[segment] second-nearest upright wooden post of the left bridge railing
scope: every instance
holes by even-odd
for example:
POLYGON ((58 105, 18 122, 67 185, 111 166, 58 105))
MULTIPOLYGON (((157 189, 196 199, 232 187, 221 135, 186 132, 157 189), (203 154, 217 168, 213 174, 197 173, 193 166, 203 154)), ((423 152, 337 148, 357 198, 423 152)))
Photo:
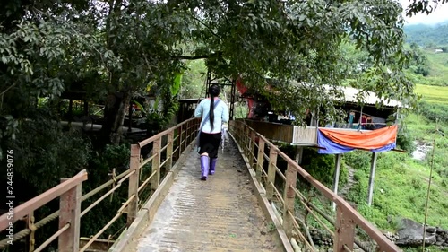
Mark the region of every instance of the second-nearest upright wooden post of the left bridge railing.
POLYGON ((135 217, 138 212, 138 202, 139 202, 139 180, 140 180, 140 146, 138 144, 131 145, 131 160, 129 161, 129 169, 131 172, 135 170, 134 174, 129 176, 129 188, 127 192, 127 197, 134 198, 127 205, 127 227, 134 222, 135 217))

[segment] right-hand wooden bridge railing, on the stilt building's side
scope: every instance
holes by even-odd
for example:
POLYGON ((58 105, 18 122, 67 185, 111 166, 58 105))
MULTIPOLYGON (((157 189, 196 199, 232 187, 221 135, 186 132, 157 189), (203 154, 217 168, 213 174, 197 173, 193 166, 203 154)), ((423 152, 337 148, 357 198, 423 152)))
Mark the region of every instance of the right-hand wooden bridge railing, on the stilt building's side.
MULTIPOLYGON (((263 170, 265 169, 265 166, 263 166, 263 161, 266 160, 269 162, 269 166, 267 168, 268 175, 265 183, 267 187, 266 197, 269 201, 272 201, 277 196, 279 197, 280 202, 283 205, 283 220, 281 222, 281 225, 289 239, 295 242, 295 239, 299 238, 304 241, 303 244, 307 243, 307 241, 305 240, 306 236, 304 236, 297 228, 298 224, 295 220, 295 217, 292 216, 293 213, 295 213, 295 203, 298 199, 298 202, 305 206, 307 213, 311 213, 311 215, 313 215, 317 222, 323 225, 325 230, 329 231, 330 234, 334 234, 334 251, 347 251, 347 249, 353 250, 353 244, 359 244, 358 240, 354 237, 355 225, 358 225, 358 227, 364 230, 371 239, 375 240, 377 246, 381 251, 401 251, 395 244, 392 243, 391 240, 383 236, 381 231, 377 230, 370 222, 366 221, 366 219, 360 213, 358 213, 348 202, 332 192, 331 189, 325 187, 320 181, 313 178, 308 172, 306 172, 305 169, 301 168, 296 161, 293 161, 287 154, 281 152, 276 145, 271 143, 263 135, 255 132, 254 129, 250 126, 247 126, 245 122, 239 120, 231 121, 229 124, 229 131, 232 135, 234 135, 237 144, 242 149, 242 154, 246 157, 250 168, 255 169, 255 173, 257 174, 257 183, 259 183, 262 187, 262 177, 265 177, 266 174, 266 172, 263 170), (269 149, 269 157, 266 153, 264 153, 265 147, 269 149), (256 152, 258 152, 258 154, 256 152), (277 157, 280 157, 288 164, 285 174, 282 174, 280 169, 278 169, 277 167, 277 157), (284 184, 283 196, 280 196, 280 190, 278 190, 275 185, 275 175, 278 172, 281 173, 279 174, 279 178, 281 178, 281 181, 283 181, 284 184), (330 230, 317 217, 317 215, 313 213, 314 205, 309 203, 308 200, 306 200, 306 198, 297 189, 297 175, 305 178, 312 187, 314 187, 323 196, 336 204, 336 221, 333 222, 334 231, 330 230)), ((316 211, 316 213, 322 215, 322 211, 316 211)), ((327 219, 328 216, 323 216, 323 218, 327 219)), ((309 248, 309 246, 307 247, 309 248)))

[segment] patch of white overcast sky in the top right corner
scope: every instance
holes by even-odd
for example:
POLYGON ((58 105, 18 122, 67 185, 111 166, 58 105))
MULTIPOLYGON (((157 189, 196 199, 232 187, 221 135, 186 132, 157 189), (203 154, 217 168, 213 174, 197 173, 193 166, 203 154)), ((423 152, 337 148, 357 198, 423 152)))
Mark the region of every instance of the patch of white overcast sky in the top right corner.
MULTIPOLYGON (((409 0, 400 0, 401 6, 406 10, 408 5, 412 2, 409 0)), ((407 24, 435 24, 437 22, 448 21, 448 3, 439 4, 433 13, 429 15, 425 14, 417 14, 412 16, 411 18, 406 16, 406 13, 403 13, 404 19, 407 21, 407 24)))

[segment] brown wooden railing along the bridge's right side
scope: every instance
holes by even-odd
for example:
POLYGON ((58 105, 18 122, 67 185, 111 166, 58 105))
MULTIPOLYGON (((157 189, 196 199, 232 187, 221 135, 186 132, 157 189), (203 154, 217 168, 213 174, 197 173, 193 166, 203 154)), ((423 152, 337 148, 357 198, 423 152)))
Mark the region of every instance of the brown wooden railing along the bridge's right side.
POLYGON ((277 146, 247 126, 244 121, 231 121, 229 132, 234 136, 251 173, 255 174, 256 187, 262 188, 262 195, 267 198, 272 212, 276 213, 280 220, 278 228, 284 230, 290 245, 296 251, 317 251, 308 231, 311 224, 307 223, 311 221, 318 229, 332 236, 333 251, 353 251, 355 244, 365 251, 401 251, 381 231, 366 221, 351 204, 323 186, 296 161, 280 152, 277 146), (280 161, 286 166, 284 172, 280 161), (297 185, 297 181, 307 181, 308 185, 297 185), (299 187, 302 187, 302 190, 298 189, 299 187), (306 196, 306 187, 311 187, 311 191, 319 194, 315 198, 326 198, 326 202, 321 205, 314 204, 310 197, 306 196), (336 213, 332 213, 335 214, 334 217, 325 213, 325 207, 322 207, 327 205, 327 209, 331 209, 332 203, 336 204, 336 213), (358 232, 365 233, 370 238, 370 243, 356 238, 357 226, 358 232), (300 246, 303 248, 299 248, 300 246))

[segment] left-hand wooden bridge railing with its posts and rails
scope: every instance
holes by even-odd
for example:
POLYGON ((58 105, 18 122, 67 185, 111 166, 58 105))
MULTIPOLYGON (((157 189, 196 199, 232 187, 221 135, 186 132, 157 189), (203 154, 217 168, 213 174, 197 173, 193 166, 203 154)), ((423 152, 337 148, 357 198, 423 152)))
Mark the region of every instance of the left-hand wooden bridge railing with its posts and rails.
MULTIPOLYGON (((140 210, 142 202, 151 198, 151 193, 159 187, 160 182, 164 178, 163 175, 173 167, 182 152, 187 149, 187 146, 194 142, 198 126, 199 119, 192 118, 177 126, 173 126, 158 135, 151 136, 138 144, 132 144, 129 169, 118 175, 115 174, 115 169, 112 169, 112 179, 83 196, 82 181, 87 179, 87 172, 85 170, 82 170, 82 172, 73 178, 61 179, 62 182, 58 186, 30 199, 30 201, 24 204, 10 209, 9 213, 4 213, 4 215, 0 216, 0 231, 11 233, 11 236, 7 236, 6 239, 0 241, 0 248, 12 246, 15 241, 28 238, 30 243, 29 251, 38 252, 42 251, 52 241, 58 238, 59 252, 83 252, 90 249, 95 242, 99 242, 100 240, 104 241, 104 239, 99 239, 99 237, 108 230, 108 228, 116 222, 123 213, 126 213, 127 215, 127 226, 131 225, 131 223, 134 222, 136 214, 140 210), (143 160, 141 156, 142 147, 149 145, 150 143, 152 143, 151 157, 143 160), (163 146, 162 143, 164 144, 163 146), (145 168, 151 169, 150 175, 147 178, 143 178, 142 176, 142 170, 145 168), (123 203, 116 211, 116 215, 95 235, 87 239, 81 239, 82 248, 80 248, 80 225, 82 224, 82 216, 89 213, 108 196, 111 196, 123 185, 126 179, 129 179, 129 183, 125 184, 128 184, 129 186, 128 197, 125 200, 125 203, 123 203), (148 186, 150 186, 149 190, 147 189, 148 186), (104 192, 95 202, 82 210, 83 201, 92 196, 99 195, 99 192, 104 191, 108 187, 112 188, 107 192, 104 192), (143 194, 143 192, 148 191, 149 193, 143 194), (58 196, 60 197, 59 210, 42 220, 39 220, 39 222, 35 222, 33 212, 58 196), (11 216, 13 216, 13 220, 11 219, 11 216), (14 225, 17 221, 21 221, 24 218, 27 221, 27 228, 16 231, 14 225), (39 248, 35 248, 34 235, 36 230, 57 218, 59 219, 59 230, 43 242, 39 248), (14 230, 10 231, 9 229, 14 230)), ((114 240, 106 241, 108 243, 110 242, 108 248, 114 243, 114 240)), ((14 251, 14 249, 10 251, 14 251)))

